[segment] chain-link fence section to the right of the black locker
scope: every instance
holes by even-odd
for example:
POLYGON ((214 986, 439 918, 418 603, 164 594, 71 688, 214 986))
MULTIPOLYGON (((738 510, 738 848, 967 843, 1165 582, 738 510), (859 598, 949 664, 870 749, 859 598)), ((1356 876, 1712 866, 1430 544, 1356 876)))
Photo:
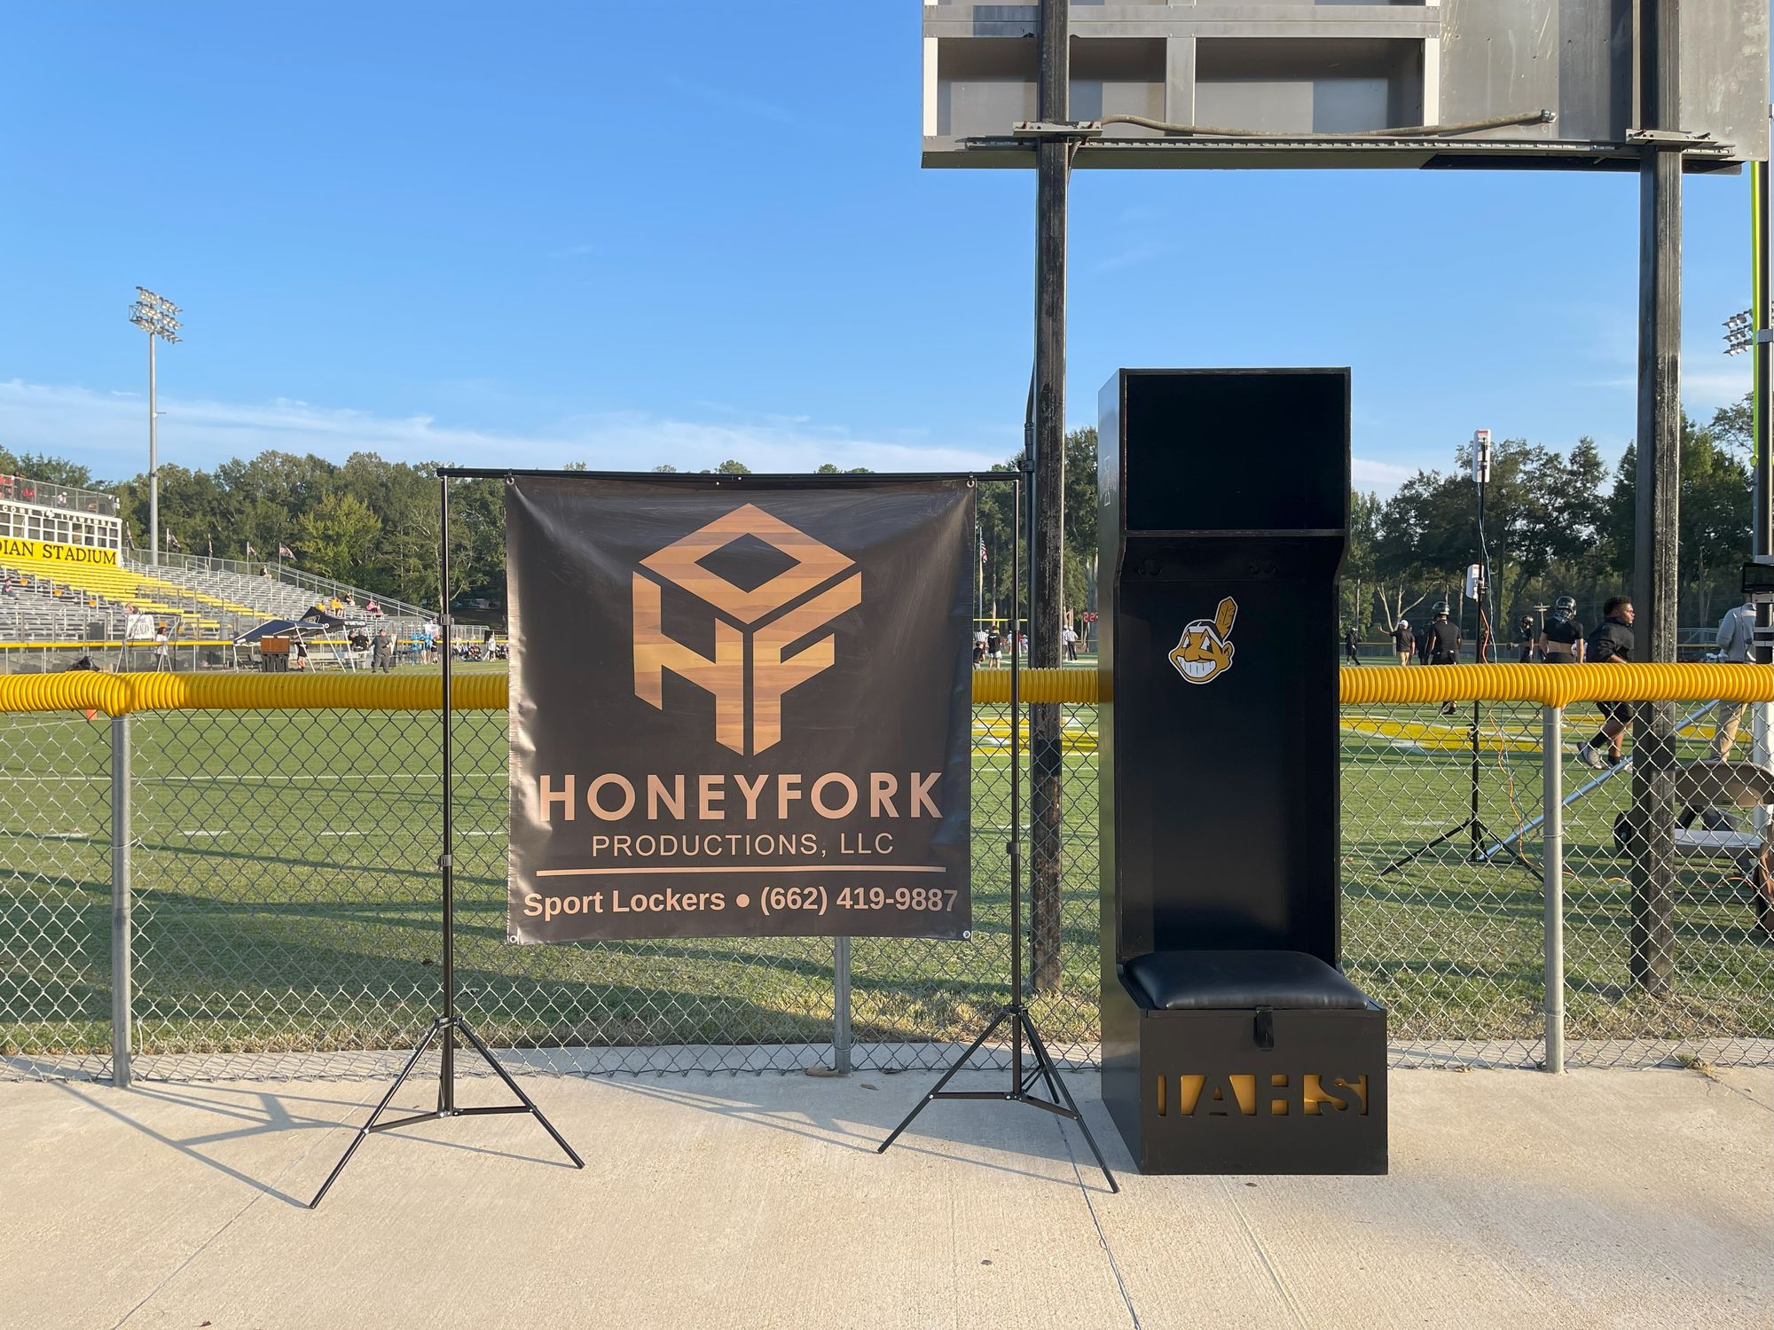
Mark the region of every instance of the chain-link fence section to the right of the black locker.
MULTIPOLYGON (((1712 759, 1714 706, 1673 711, 1673 759, 1712 759)), ((1689 768, 1705 778, 1675 802, 1678 825, 1632 835, 1632 763, 1611 764, 1605 745, 1582 761, 1602 720, 1588 702, 1561 718, 1549 920, 1545 709, 1343 709, 1343 958, 1387 1005, 1394 1066, 1543 1066, 1549 926, 1563 942, 1566 1066, 1774 1060, 1765 819, 1737 807, 1742 778, 1689 768), (1659 874, 1662 940, 1636 942, 1644 880, 1659 874)), ((1740 773, 1753 770, 1747 729, 1740 773)))

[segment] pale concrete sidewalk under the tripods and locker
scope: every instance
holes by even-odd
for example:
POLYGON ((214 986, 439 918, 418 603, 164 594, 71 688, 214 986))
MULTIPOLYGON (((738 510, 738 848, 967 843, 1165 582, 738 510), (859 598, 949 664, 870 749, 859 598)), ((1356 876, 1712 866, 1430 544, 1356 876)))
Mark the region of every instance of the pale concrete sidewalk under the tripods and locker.
POLYGON ((1032 1108, 876 1156, 930 1080, 529 1078, 584 1172, 456 1119, 373 1137, 319 1211, 380 1084, 5 1084, 0 1323, 1774 1326, 1774 1069, 1393 1073, 1389 1177, 1121 1195, 1032 1108))

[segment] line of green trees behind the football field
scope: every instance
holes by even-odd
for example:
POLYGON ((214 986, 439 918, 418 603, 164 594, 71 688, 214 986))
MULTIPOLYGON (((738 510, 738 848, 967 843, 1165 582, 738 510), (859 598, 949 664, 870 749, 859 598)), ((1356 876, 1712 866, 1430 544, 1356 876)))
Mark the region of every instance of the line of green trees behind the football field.
MULTIPOLYGON (((1735 603, 1737 569, 1749 532, 1751 406, 1746 395, 1707 424, 1682 419, 1682 603, 1684 624, 1707 624, 1735 603)), ((213 470, 160 468, 160 525, 184 553, 275 562, 279 548, 321 576, 420 605, 438 599, 438 463, 385 461, 353 452, 344 463, 261 452, 213 470), (250 553, 248 553, 250 550, 250 553)), ((1471 456, 1451 472, 1419 470, 1382 500, 1357 493, 1343 566, 1343 619, 1366 638, 1384 637, 1400 617, 1460 601, 1465 567, 1480 560, 1471 456)), ((584 470, 578 466, 577 470, 584 470)), ((676 472, 660 465, 655 472, 676 472)), ((711 468, 750 473, 729 459, 711 468)), ((836 473, 827 463, 820 468, 836 473)), ((852 468, 864 472, 866 468, 852 468)), ((992 472, 1013 473, 1018 461, 992 472)), ((1506 626, 1558 596, 1575 596, 1593 621, 1600 603, 1632 582, 1636 452, 1609 470, 1595 442, 1556 452, 1524 438, 1494 447, 1485 488, 1485 544, 1492 598, 1506 626)), ((105 489, 119 500, 126 530, 147 539, 147 477, 96 479, 62 458, 12 454, 0 447, 0 472, 50 484, 105 489)), ((1066 434, 1064 587, 1071 612, 1095 603, 1096 429, 1066 434)), ((1024 500, 1027 504, 1027 477, 1024 500)), ((1011 610, 1013 488, 981 484, 977 497, 981 612, 1004 622, 1011 610)), ((452 582, 459 594, 504 601, 504 493, 498 481, 459 481, 451 491, 452 582)), ((1024 550, 1027 569, 1031 552, 1024 550)), ((1471 622, 1471 614, 1469 614, 1471 622)))

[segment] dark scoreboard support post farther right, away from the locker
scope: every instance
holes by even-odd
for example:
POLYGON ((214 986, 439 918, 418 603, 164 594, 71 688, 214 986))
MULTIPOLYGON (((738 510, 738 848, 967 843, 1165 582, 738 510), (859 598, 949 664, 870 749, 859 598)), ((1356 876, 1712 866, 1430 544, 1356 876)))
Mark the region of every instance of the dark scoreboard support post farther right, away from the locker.
MULTIPOLYGON (((1682 140, 1680 0, 1641 0, 1639 422, 1632 599, 1639 660, 1676 656, 1678 488, 1682 479, 1682 140), (1662 133, 1659 133, 1662 131, 1662 133)), ((1632 982, 1662 993, 1675 970, 1675 704, 1634 716, 1632 982)))

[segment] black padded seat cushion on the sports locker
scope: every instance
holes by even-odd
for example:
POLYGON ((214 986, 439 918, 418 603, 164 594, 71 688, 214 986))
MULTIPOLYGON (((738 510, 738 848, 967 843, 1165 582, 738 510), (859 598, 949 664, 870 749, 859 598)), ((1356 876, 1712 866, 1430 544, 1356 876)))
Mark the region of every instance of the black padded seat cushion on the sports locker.
POLYGON ((1359 988, 1302 951, 1157 951, 1125 972, 1160 1011, 1368 1005, 1359 988))

